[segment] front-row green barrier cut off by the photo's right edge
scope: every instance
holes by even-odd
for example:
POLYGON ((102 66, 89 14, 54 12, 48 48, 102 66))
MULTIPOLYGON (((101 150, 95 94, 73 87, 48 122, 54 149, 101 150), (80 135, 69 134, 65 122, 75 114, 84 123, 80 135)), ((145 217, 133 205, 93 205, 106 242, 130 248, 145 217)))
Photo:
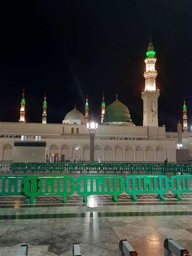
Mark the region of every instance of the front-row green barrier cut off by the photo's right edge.
POLYGON ((171 191, 175 198, 182 200, 181 194, 192 193, 192 175, 177 175, 171 177, 171 191))

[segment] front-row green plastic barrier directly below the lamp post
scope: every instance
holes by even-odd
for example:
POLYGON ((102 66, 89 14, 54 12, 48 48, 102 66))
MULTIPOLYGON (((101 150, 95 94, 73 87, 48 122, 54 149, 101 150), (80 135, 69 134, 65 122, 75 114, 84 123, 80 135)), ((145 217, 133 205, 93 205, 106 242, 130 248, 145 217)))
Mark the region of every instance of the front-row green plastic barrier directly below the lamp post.
POLYGON ((112 200, 117 202, 117 196, 124 190, 123 183, 121 176, 81 176, 77 179, 76 190, 85 203, 87 196, 91 195, 111 195, 112 200))

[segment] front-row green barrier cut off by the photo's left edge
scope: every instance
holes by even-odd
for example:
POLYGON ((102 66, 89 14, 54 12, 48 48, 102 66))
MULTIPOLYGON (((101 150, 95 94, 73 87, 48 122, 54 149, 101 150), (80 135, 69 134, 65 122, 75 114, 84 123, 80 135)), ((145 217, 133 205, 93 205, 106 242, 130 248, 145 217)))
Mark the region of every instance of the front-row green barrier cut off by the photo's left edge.
POLYGON ((0 176, 0 196, 21 196, 23 176, 0 176))

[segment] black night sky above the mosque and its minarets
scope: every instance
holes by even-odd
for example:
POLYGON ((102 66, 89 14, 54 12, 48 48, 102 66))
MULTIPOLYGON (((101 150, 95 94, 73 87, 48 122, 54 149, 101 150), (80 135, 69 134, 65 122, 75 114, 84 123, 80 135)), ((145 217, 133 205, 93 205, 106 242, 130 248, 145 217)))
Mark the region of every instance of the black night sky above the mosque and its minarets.
POLYGON ((0 21, 0 121, 19 119, 22 88, 26 120, 61 123, 77 105, 100 121, 102 92, 115 94, 132 121, 143 124, 145 53, 149 34, 156 51, 159 126, 176 130, 183 96, 192 125, 192 1, 4 1, 0 21))

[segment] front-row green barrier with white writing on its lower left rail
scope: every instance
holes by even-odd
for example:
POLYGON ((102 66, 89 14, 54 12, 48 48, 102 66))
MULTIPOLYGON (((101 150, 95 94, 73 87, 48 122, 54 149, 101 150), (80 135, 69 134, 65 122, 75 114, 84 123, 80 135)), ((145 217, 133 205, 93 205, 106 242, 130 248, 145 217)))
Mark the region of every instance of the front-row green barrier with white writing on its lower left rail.
POLYGON ((66 203, 67 196, 75 192, 75 179, 72 176, 31 176, 24 181, 23 193, 26 203, 35 203, 37 196, 62 196, 66 203))

